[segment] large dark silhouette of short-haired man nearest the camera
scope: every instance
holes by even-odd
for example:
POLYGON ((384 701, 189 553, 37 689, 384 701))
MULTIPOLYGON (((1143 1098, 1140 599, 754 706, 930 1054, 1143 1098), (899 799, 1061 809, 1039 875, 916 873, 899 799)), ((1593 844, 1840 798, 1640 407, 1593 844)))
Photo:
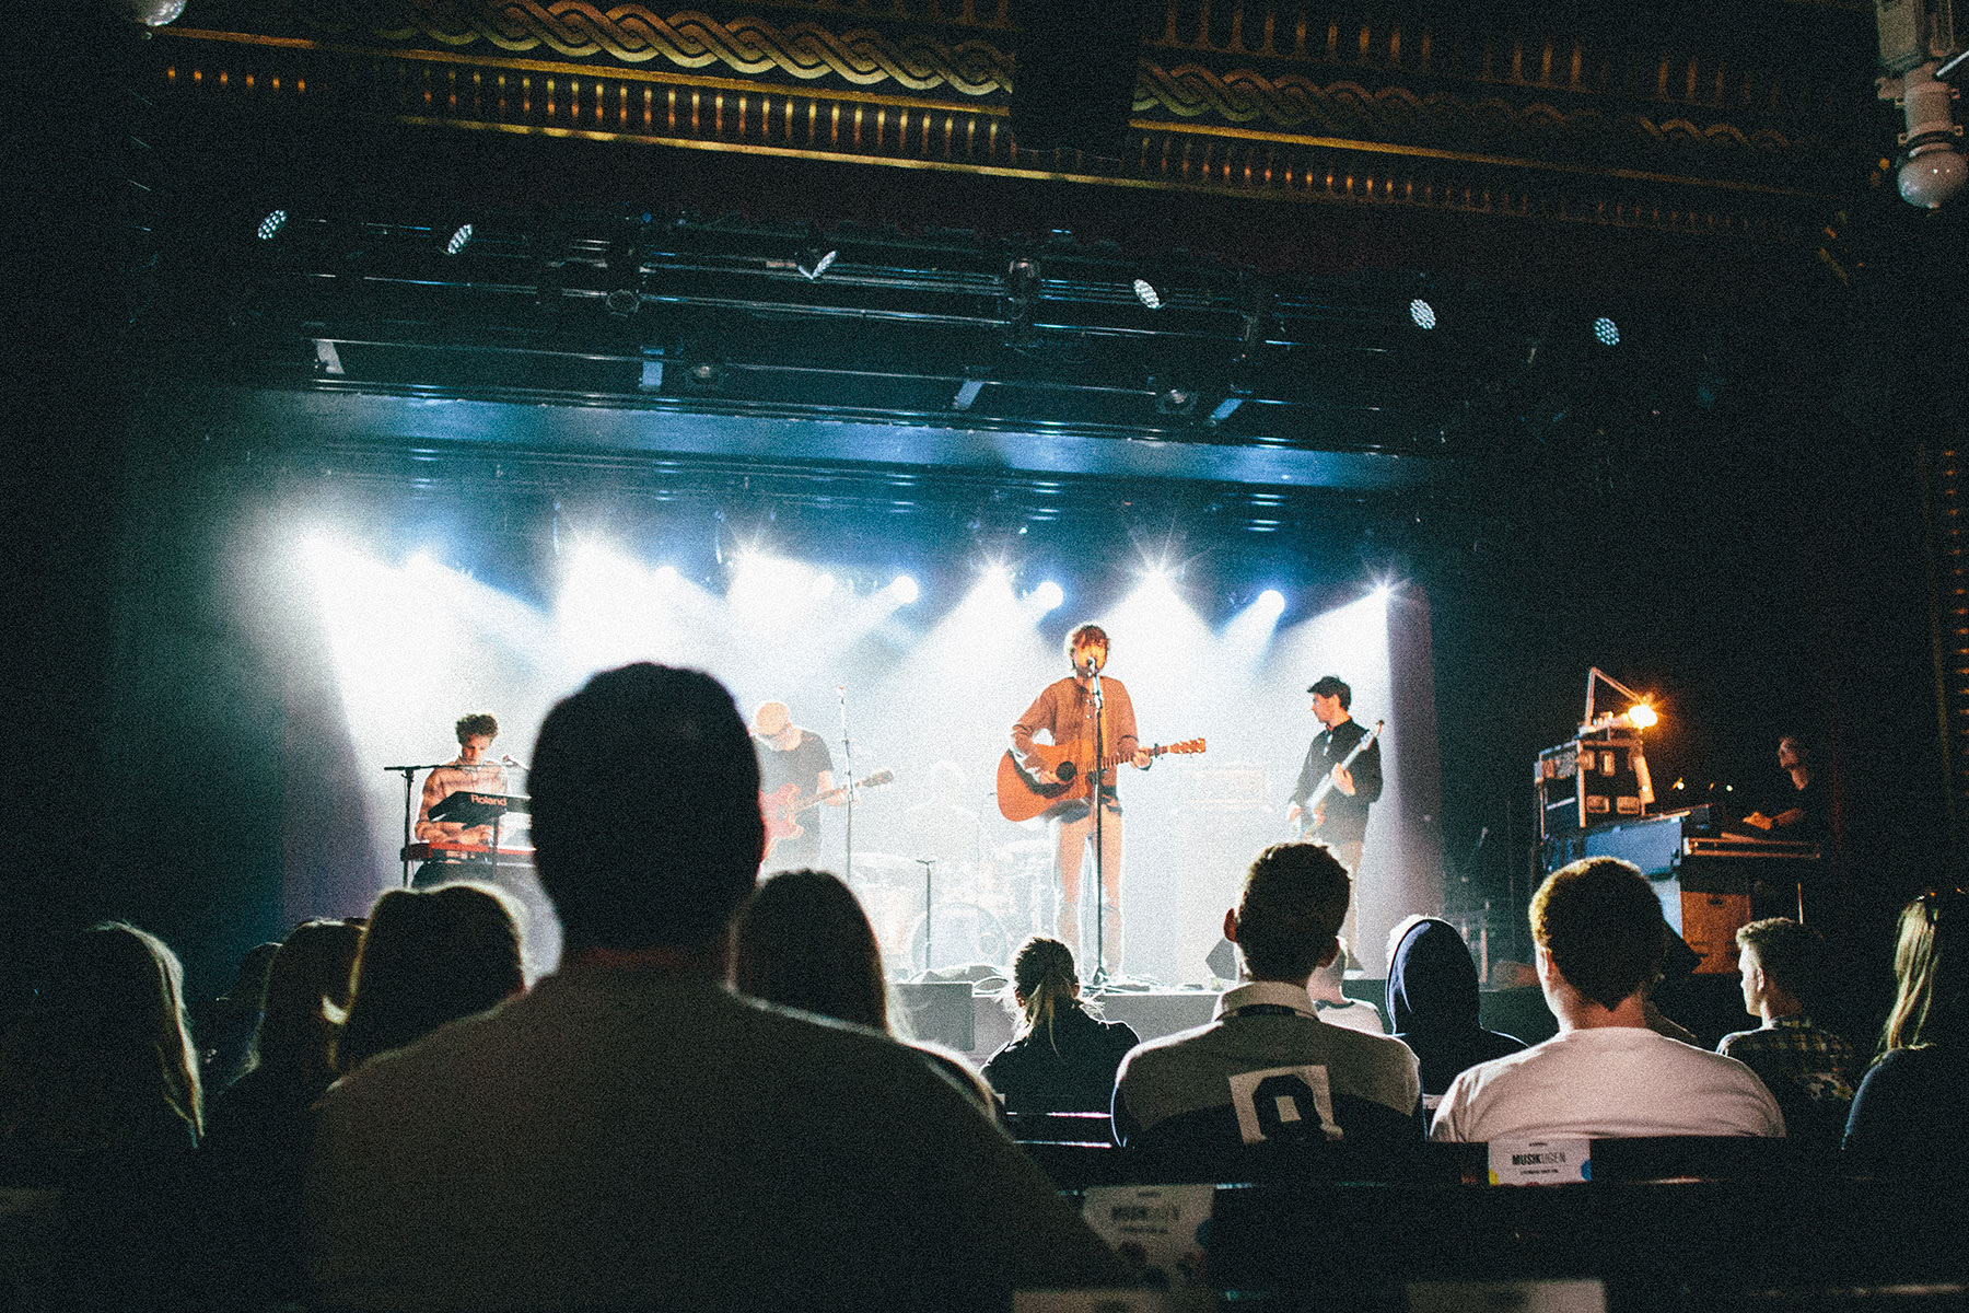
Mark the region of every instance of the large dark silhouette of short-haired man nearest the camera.
POLYGON ((319 1303, 969 1309, 1120 1280, 921 1055, 727 988, 764 823, 723 685, 597 675, 532 762, 561 969, 323 1096, 319 1303))

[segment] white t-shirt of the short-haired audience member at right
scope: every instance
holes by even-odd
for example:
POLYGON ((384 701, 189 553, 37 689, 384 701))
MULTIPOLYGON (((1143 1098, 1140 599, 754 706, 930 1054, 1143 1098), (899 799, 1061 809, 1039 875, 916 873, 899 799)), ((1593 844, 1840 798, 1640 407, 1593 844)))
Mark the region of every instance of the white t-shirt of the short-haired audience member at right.
POLYGON ((1435 1110, 1431 1140, 1577 1136, 1782 1136, 1784 1114, 1756 1075, 1638 1026, 1559 1032, 1479 1063, 1435 1110))

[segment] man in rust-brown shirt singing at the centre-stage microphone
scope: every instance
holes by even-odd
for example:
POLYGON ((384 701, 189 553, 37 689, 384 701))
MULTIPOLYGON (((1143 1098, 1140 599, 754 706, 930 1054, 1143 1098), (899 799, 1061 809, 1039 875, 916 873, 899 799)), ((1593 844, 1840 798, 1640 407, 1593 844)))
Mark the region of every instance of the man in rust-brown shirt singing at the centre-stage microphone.
MULTIPOLYGON (((1026 715, 1012 726, 1012 756, 1042 785, 1061 783, 1059 776, 1046 768, 1032 754, 1032 736, 1046 732, 1055 744, 1085 742, 1085 756, 1093 758, 1095 742, 1095 701, 1093 689, 1101 685, 1103 724, 1101 750, 1109 758, 1128 758, 1136 770, 1148 770, 1154 760, 1134 736, 1134 703, 1120 679, 1101 675, 1109 659, 1107 630, 1099 624, 1081 624, 1067 634, 1067 663, 1073 673, 1055 679, 1040 691, 1026 715)), ((1105 967, 1111 970, 1120 963, 1120 801, 1114 797, 1114 770, 1099 782, 1101 793, 1101 892, 1103 921, 1101 943, 1105 967)), ((1053 872, 1059 878, 1059 937, 1069 947, 1079 947, 1081 929, 1081 866, 1087 862, 1087 848, 1093 841, 1095 807, 1093 799, 1063 803, 1051 815, 1053 829, 1053 872)))

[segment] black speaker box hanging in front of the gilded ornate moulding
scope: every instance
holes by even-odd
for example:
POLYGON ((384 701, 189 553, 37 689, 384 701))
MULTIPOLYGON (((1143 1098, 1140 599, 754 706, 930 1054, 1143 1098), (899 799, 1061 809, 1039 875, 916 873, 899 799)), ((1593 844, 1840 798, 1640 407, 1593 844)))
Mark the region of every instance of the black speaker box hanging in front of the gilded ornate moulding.
POLYGON ((1018 0, 1012 144, 1120 159, 1134 112, 1140 0, 1018 0))

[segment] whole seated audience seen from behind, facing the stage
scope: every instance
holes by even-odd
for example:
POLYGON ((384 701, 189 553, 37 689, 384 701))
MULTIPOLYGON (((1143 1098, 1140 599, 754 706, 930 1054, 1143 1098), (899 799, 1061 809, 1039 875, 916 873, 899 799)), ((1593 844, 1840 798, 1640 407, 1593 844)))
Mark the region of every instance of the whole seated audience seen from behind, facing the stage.
POLYGON ((1392 1033, 1363 1018, 1333 976, 1349 874, 1276 844, 1225 915, 1242 978, 1207 1026, 1142 1043, 1034 937, 1014 1037, 973 1071, 894 1033, 841 880, 758 884, 758 783, 707 675, 630 665, 557 705, 532 795, 565 949, 534 988, 518 909, 471 882, 293 927, 203 1043, 167 945, 77 933, 0 1043, 0 1303, 1002 1307, 1124 1283, 1004 1130, 1048 1112, 1107 1114, 1144 1156, 1790 1134, 1861 1173, 1969 1167, 1959 890, 1902 911, 1863 1065, 1811 1020, 1821 945, 1796 921, 1739 935, 1758 1028, 1715 1053, 1662 1033, 1660 906, 1632 866, 1577 862, 1532 900, 1559 1033, 1524 1045, 1481 1026, 1431 917, 1390 937, 1392 1033))

